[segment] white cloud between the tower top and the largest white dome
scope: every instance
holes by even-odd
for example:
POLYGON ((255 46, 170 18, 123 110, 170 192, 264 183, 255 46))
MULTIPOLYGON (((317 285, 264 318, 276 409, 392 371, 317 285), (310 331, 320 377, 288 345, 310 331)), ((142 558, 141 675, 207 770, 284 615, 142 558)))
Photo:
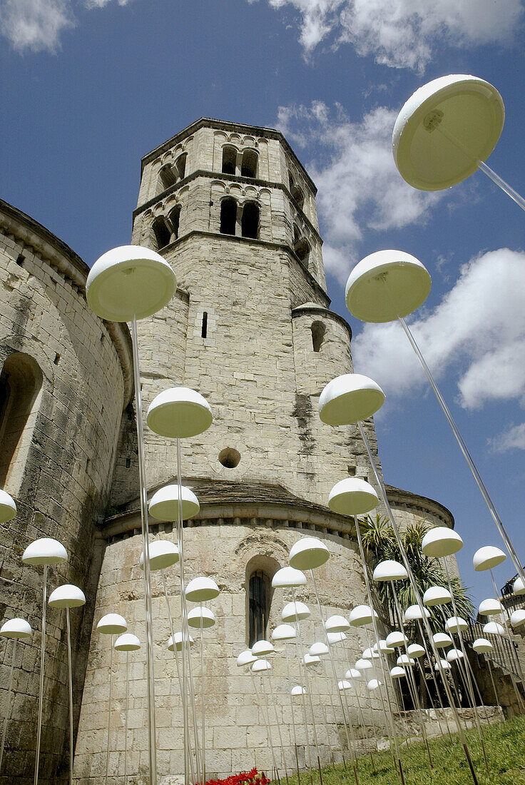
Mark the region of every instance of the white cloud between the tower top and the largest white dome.
POLYGON ((303 148, 315 145, 318 162, 307 168, 318 188, 323 257, 326 271, 341 283, 357 261, 363 230, 421 223, 443 195, 417 191, 400 177, 391 152, 396 116, 381 107, 352 122, 340 106, 330 113, 322 101, 279 108, 278 126, 286 137, 303 148))

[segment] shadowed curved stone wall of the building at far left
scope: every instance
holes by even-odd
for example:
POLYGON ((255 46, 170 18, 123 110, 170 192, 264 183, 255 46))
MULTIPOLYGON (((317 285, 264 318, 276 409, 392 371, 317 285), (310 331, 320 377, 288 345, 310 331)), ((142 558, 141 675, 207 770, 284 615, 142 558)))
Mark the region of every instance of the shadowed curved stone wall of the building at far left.
MULTIPOLYGON (((59 539, 69 560, 49 568, 49 592, 71 582, 86 593, 86 606, 71 612, 78 706, 89 646, 86 626, 90 630, 94 608, 88 587, 100 566, 92 558, 93 543, 108 505, 122 406, 131 392, 130 347, 126 327, 103 323, 90 312, 83 288, 86 265, 64 243, 5 203, 0 203, 0 230, 0 370, 9 368, 12 387, 2 409, 0 439, 4 450, 7 443, 14 448, 10 463, 2 464, 2 482, 18 509, 0 531, 0 623, 23 616, 33 628, 16 652, 16 696, 2 773, 29 782, 35 765, 42 568, 24 566, 21 557, 34 539, 59 539), (35 394, 20 414, 31 385, 35 394)), ((42 782, 56 780, 69 755, 64 612, 48 608, 46 641, 42 782)), ((2 639, 2 717, 8 709, 10 656, 11 643, 2 639)))

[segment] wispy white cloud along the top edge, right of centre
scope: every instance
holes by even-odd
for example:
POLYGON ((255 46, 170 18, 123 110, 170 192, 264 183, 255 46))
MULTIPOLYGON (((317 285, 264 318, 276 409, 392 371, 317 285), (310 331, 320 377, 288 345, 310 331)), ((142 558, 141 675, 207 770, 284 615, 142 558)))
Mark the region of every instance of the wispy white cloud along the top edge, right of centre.
POLYGON ((301 15, 306 53, 332 35, 392 68, 423 71, 432 52, 448 46, 503 44, 523 20, 521 0, 268 0, 301 15))

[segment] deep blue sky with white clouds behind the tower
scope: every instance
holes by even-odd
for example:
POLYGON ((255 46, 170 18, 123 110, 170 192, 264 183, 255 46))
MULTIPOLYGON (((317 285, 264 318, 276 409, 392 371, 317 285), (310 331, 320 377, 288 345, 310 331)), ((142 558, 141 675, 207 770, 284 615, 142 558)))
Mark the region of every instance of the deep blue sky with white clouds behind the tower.
POLYGON ((525 560, 525 214, 480 173, 416 192, 390 152, 418 86, 474 74, 505 101, 490 166, 525 193, 524 19, 521 0, 0 0, 0 195, 89 265, 129 242, 140 156, 177 130, 205 115, 286 133, 319 188, 355 370, 387 395, 385 479, 451 509, 478 600, 472 553, 498 534, 403 335, 349 317, 344 284, 388 247, 431 272, 414 334, 525 560))

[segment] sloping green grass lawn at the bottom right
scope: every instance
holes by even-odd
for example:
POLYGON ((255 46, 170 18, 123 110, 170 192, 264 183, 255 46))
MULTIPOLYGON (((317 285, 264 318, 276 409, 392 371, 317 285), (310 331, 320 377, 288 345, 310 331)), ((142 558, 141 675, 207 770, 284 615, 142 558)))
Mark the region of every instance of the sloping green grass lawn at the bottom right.
MULTIPOLYGON (((432 739, 429 742, 434 769, 428 764, 425 746, 417 740, 409 747, 402 747, 401 761, 406 785, 463 785, 473 783, 465 752, 457 734, 432 739)), ((483 727, 483 739, 490 775, 487 776, 479 736, 474 731, 465 734, 472 763, 479 785, 525 785, 525 717, 514 717, 496 725, 483 727)), ((348 758, 348 755, 345 756, 348 758)), ((370 755, 359 758, 358 776, 360 785, 400 785, 399 772, 392 767, 389 752, 374 753, 375 772, 370 755)), ((323 785, 355 785, 352 763, 347 760, 346 770, 342 764, 322 769, 323 785)), ((320 785, 319 772, 312 772, 314 785, 320 785)), ((281 776, 281 785, 286 779, 281 776)), ((297 785, 297 775, 289 776, 290 785, 297 785)), ((278 783, 274 783, 278 785, 278 783)), ((301 773, 301 785, 311 785, 308 772, 301 773)))

